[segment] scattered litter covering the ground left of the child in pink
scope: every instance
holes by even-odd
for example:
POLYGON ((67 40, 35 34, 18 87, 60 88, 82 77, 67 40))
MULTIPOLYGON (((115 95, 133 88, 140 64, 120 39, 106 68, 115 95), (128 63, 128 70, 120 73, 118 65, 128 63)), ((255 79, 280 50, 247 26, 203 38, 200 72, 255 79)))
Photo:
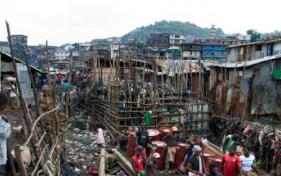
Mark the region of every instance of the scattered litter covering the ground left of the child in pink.
MULTIPOLYGON (((67 152, 67 163, 70 166, 72 175, 89 175, 89 168, 96 167, 100 149, 96 144, 96 134, 85 127, 91 116, 84 115, 84 112, 76 113, 69 118, 68 122, 72 124, 72 130, 67 130, 65 144, 67 152), (84 120, 84 124, 83 124, 84 120)), ((95 130, 95 129, 93 129, 95 130)), ((105 146, 110 146, 110 136, 105 131, 105 146)))

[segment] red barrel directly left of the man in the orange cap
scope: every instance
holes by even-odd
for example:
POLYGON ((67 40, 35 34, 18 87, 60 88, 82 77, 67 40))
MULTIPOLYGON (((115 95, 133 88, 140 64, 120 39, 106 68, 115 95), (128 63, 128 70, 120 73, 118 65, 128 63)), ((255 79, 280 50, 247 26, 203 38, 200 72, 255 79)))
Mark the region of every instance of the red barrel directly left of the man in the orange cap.
POLYGON ((161 141, 153 141, 152 144, 157 146, 155 152, 159 153, 161 156, 161 160, 157 164, 157 170, 165 170, 167 144, 165 142, 161 142, 161 141))

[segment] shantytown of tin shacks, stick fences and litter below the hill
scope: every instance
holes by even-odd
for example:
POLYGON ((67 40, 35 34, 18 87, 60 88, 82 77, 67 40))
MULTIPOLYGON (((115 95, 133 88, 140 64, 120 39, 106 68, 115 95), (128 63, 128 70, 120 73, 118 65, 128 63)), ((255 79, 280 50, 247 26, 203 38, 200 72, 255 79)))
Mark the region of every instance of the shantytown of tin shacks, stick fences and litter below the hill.
POLYGON ((225 172, 221 148, 236 134, 237 155, 251 146, 253 174, 281 175, 281 39, 214 47, 161 41, 169 42, 169 34, 152 35, 145 53, 136 44, 111 51, 108 41, 94 40, 79 53, 79 67, 70 51, 67 66, 54 72, 47 42, 45 70, 15 58, 13 47, 11 54, 1 51, 1 92, 14 92, 20 106, 14 110, 10 97, 3 111, 13 121, 6 172, 138 175, 132 158, 138 134, 147 132, 146 155, 160 158, 158 175, 186 175, 185 156, 195 143, 204 149, 204 165, 225 172), (220 51, 216 59, 209 49, 220 51), (166 140, 170 134, 178 137, 175 146, 166 140))

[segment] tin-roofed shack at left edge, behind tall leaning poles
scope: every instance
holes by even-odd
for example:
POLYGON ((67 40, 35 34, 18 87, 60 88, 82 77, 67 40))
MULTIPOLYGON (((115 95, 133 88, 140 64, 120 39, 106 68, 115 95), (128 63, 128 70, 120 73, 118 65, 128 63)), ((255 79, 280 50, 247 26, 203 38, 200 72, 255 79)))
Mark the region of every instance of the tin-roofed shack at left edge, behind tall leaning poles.
MULTIPOLYGON (((6 54, 0 51, 0 61, 1 61, 1 89, 8 87, 7 82, 4 80, 5 77, 15 77, 13 70, 13 61, 10 54, 6 54)), ((15 62, 18 70, 18 77, 20 80, 20 87, 22 88, 22 93, 27 100, 27 103, 32 103, 34 105, 34 96, 32 93, 32 86, 30 82, 30 75, 28 75, 26 63, 20 61, 20 59, 15 58, 15 62)), ((36 81, 40 70, 30 65, 33 79, 36 81)))

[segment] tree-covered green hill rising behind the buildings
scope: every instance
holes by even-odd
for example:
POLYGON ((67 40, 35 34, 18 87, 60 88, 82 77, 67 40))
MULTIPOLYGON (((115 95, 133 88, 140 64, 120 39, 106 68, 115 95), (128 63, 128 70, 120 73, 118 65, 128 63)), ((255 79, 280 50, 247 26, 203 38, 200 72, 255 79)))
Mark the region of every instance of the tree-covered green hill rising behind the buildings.
MULTIPOLYGON (((136 30, 129 32, 122 36, 122 42, 129 42, 129 40, 137 39, 140 42, 145 43, 151 33, 163 33, 168 32, 170 34, 185 34, 192 37, 209 37, 209 28, 202 28, 189 22, 180 21, 166 21, 162 20, 155 22, 154 25, 138 27, 136 30)), ((221 28, 216 29, 217 35, 223 35, 221 28)))

